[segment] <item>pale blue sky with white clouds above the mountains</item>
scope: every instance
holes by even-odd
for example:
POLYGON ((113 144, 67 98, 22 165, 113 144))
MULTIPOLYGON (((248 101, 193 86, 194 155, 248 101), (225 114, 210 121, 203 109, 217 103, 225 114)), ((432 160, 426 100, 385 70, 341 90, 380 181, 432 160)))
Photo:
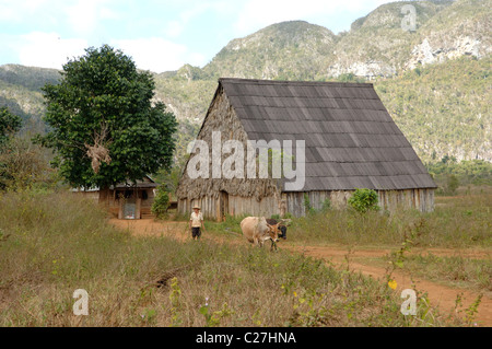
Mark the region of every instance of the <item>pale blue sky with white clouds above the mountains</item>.
POLYGON ((61 69, 108 44, 153 72, 207 65, 230 40, 306 21, 333 33, 394 0, 0 0, 0 66, 61 69))

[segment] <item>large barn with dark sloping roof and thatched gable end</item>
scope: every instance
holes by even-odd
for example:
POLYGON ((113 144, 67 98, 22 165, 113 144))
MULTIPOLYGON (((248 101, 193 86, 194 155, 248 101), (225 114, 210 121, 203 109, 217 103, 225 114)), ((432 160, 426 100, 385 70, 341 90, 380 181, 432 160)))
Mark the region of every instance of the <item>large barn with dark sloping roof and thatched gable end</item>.
POLYGON ((213 131, 245 149, 248 140, 305 140, 304 188, 285 191, 284 181, 247 176, 192 179, 188 161, 176 191, 179 213, 199 205, 216 220, 303 216, 305 195, 316 209, 326 199, 343 208, 356 188, 375 189, 384 210, 434 209, 435 183, 371 83, 220 79, 197 137, 210 154, 213 131))

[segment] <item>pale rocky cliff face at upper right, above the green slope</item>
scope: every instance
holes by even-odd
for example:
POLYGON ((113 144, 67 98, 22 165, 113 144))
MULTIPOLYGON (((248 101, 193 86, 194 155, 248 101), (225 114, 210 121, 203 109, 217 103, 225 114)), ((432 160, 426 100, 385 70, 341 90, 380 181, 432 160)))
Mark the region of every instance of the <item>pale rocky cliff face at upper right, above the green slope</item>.
POLYGON ((492 1, 396 2, 379 7, 352 24, 336 46, 327 74, 366 79, 391 77, 420 66, 461 56, 490 55, 492 1), (414 30, 402 11, 414 9, 414 30))

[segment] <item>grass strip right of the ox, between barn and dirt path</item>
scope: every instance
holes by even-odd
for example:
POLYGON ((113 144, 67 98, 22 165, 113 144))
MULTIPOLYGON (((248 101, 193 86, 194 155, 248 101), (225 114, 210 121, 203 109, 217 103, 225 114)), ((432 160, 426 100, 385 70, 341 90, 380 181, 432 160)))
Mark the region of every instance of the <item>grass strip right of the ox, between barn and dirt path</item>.
POLYGON ((325 210, 294 219, 289 239, 297 243, 399 245, 412 235, 422 247, 490 247, 492 194, 436 198, 434 212, 394 214, 325 210))

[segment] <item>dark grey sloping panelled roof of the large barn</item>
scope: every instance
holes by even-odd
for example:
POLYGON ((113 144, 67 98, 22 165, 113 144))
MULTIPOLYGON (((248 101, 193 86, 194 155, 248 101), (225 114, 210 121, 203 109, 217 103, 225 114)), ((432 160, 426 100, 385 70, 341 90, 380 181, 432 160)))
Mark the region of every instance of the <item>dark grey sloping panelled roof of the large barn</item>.
POLYGON ((371 83, 219 84, 250 140, 305 140, 303 191, 436 187, 371 83))

